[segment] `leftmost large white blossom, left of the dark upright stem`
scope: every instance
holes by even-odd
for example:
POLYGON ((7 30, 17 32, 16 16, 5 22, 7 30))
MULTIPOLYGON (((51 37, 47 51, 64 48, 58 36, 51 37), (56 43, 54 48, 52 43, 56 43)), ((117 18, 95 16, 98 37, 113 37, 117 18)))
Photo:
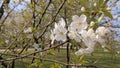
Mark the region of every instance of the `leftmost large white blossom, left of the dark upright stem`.
POLYGON ((56 41, 66 41, 67 40, 67 29, 65 28, 65 21, 61 18, 61 20, 58 23, 55 23, 55 28, 51 30, 51 44, 54 43, 54 40, 56 41))

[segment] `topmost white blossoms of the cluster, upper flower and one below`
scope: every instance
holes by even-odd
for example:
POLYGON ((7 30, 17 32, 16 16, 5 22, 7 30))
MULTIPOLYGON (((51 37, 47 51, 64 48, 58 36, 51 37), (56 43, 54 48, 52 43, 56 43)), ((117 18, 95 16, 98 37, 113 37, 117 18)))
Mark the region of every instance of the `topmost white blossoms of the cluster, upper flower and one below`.
POLYGON ((70 39, 74 39, 77 42, 81 41, 80 32, 82 30, 85 30, 88 26, 86 22, 87 17, 85 15, 81 15, 80 17, 77 15, 74 15, 72 17, 72 23, 68 27, 68 36, 70 39))

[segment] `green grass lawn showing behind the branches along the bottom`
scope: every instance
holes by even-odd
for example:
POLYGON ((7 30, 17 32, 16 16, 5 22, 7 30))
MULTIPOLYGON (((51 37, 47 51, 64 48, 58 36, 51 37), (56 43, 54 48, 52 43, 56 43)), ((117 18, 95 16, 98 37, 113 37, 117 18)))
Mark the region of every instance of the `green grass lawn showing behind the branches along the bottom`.
MULTIPOLYGON (((70 51, 70 55, 73 55, 74 51, 70 51)), ((60 52, 55 50, 55 55, 46 55, 46 59, 57 60, 60 62, 66 62, 66 50, 61 49, 60 52)), ((74 59, 71 56, 71 60, 74 59)), ((38 60, 38 59, 37 59, 38 60)), ((103 49, 96 49, 92 55, 85 56, 85 60, 89 64, 95 65, 98 68, 120 68, 120 54, 113 54, 112 52, 104 52, 103 49)), ((38 60, 39 61, 39 60, 38 60)), ((28 68, 31 64, 30 58, 20 59, 15 61, 15 68, 28 68)), ((52 62, 43 61, 42 68, 50 68, 52 62)), ((2 68, 0 66, 0 68, 2 68)), ((62 68, 65 68, 63 66, 62 68)))

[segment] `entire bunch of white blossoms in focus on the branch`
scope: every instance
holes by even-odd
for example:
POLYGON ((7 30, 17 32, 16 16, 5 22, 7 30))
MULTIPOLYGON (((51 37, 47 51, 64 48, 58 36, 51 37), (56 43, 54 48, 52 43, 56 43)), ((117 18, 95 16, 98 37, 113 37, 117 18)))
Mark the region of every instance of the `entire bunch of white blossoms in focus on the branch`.
POLYGON ((82 14, 80 17, 74 15, 68 29, 65 28, 66 24, 64 19, 55 23, 55 28, 51 30, 51 43, 53 44, 54 40, 66 41, 67 36, 76 42, 83 42, 86 48, 79 49, 75 52, 76 55, 91 54, 94 51, 96 42, 104 46, 105 41, 111 35, 111 31, 107 27, 98 27, 96 31, 94 31, 93 28, 88 27, 94 26, 94 22, 92 21, 90 25, 88 25, 86 19, 86 15, 82 14))

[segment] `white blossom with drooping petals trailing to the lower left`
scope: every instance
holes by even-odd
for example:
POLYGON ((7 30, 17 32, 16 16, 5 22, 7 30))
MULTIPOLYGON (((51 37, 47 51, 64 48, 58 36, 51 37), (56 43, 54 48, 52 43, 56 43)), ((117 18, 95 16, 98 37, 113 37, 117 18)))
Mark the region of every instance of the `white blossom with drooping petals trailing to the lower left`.
POLYGON ((81 37, 82 41, 86 45, 87 48, 81 48, 77 52, 75 52, 76 55, 86 55, 91 54, 94 51, 94 45, 96 43, 96 35, 94 30, 91 28, 88 31, 82 30, 81 31, 81 37))

